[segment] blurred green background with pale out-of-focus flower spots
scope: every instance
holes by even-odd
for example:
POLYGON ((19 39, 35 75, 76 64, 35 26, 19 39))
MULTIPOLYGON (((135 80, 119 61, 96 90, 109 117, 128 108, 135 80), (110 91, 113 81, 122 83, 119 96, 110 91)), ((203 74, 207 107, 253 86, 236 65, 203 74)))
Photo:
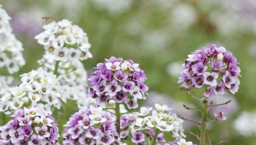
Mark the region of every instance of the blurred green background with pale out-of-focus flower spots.
MULTIPOLYGON (((215 102, 233 101, 220 108, 227 120, 209 124, 210 138, 213 144, 220 140, 230 145, 256 144, 255 0, 0 0, 0 4, 12 17, 13 32, 24 47, 26 65, 14 74, 17 80, 20 74, 38 67, 37 60, 44 52, 34 39, 42 31, 42 17, 66 18, 88 34, 93 54, 84 61, 88 74, 112 55, 133 59, 146 72, 149 86, 148 99, 141 104, 165 103, 198 121, 199 114, 182 108, 182 103, 199 104, 178 89, 181 64, 187 54, 203 45, 224 46, 240 62, 242 77, 235 95, 215 97, 215 102)), ((7 75, 5 68, 0 74, 7 75)), ((60 130, 77 110, 74 102, 65 105, 69 111, 57 118, 60 130)), ((199 131, 194 124, 184 125, 199 131)), ((187 140, 197 142, 186 134, 187 140)))

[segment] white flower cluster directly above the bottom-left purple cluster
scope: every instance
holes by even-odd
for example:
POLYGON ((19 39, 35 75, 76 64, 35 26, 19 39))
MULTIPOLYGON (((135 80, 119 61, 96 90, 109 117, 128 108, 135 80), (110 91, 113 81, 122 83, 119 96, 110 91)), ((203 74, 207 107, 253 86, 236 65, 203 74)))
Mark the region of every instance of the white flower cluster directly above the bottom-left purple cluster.
POLYGON ((20 75, 21 83, 11 90, 11 109, 21 107, 23 103, 37 106, 38 103, 60 108, 62 97, 61 85, 55 75, 43 69, 32 70, 20 75))

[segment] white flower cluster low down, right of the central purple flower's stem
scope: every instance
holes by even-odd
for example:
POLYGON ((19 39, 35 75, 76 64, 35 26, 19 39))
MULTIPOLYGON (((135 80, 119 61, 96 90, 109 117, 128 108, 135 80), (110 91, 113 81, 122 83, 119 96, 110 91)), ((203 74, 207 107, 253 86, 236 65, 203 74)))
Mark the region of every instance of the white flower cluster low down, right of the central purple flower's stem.
POLYGON ((178 118, 175 113, 169 113, 170 108, 167 105, 156 103, 154 106, 155 109, 152 110, 151 114, 151 107, 141 107, 131 129, 139 131, 151 128, 161 132, 171 132, 176 139, 185 137, 182 127, 183 120, 178 118))

